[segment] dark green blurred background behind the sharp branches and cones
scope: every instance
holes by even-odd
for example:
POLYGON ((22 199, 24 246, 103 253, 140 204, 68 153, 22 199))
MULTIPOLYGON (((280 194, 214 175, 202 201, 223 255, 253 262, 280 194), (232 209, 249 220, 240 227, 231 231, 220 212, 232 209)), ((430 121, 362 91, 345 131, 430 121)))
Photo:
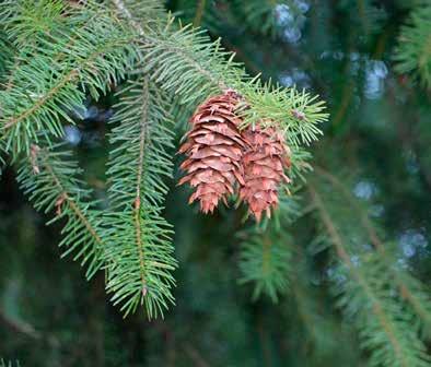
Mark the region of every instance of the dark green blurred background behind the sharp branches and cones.
MULTIPOLYGON (((397 67, 401 26, 424 3, 172 0, 166 8, 222 37, 251 74, 327 102, 330 119, 310 147, 315 169, 307 185, 319 190, 346 238, 366 230, 356 213, 364 210, 378 236, 394 245, 400 267, 429 284, 430 88, 397 67)), ((430 45, 423 50, 428 62, 430 45)), ((114 102, 89 99, 77 114, 84 118, 66 128, 101 196, 114 102)), ((273 304, 267 297, 254 301, 253 285, 238 284, 244 213, 221 209, 203 216, 187 205, 187 189, 171 182, 165 216, 176 229, 177 305, 165 320, 150 322, 143 312, 123 319, 102 273, 88 283, 78 263, 60 259, 60 225, 45 225, 50 216, 32 209, 14 176, 9 167, 0 181, 0 357, 24 367, 364 364, 356 331, 334 307, 326 254, 314 256, 318 220, 310 214, 306 187, 295 196, 302 214, 279 239, 291 244, 292 261, 303 267, 273 304)))

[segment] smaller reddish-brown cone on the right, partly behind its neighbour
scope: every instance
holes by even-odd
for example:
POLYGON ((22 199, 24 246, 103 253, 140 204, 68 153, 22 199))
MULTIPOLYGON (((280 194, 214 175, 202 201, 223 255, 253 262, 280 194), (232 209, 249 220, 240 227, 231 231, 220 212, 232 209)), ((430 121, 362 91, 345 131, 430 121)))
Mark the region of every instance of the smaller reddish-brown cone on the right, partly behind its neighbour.
POLYGON ((290 167, 290 150, 273 128, 248 127, 243 138, 248 147, 243 156, 245 183, 240 199, 259 222, 264 211, 270 217, 271 208, 277 206, 280 183, 290 181, 284 175, 284 168, 290 167))

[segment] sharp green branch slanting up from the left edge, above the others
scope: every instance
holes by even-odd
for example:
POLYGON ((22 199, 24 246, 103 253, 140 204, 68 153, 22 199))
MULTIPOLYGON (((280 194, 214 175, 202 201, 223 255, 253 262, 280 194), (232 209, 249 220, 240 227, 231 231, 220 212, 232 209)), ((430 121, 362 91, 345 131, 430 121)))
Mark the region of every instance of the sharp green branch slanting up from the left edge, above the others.
MULTIPOLYGON (((106 12, 90 24, 89 20, 94 20, 96 13, 100 8, 89 4, 62 16, 63 23, 70 26, 67 32, 39 33, 38 43, 31 48, 37 57, 27 58, 14 73, 15 85, 0 93, 2 140, 8 151, 15 155, 28 151, 39 132, 44 132, 48 142, 48 132, 61 135, 61 119, 72 122, 68 110, 82 107, 85 99, 81 85, 97 98, 130 69, 135 55, 130 40, 135 36, 106 12)), ((19 13, 10 32, 19 34, 24 20, 19 13)))

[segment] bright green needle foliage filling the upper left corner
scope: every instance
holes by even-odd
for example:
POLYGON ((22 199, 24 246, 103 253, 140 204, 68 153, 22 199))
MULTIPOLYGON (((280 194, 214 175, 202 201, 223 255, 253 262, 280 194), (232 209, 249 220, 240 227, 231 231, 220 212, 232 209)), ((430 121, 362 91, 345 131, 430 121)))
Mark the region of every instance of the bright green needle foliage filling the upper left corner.
POLYGON ((125 76, 133 59, 132 35, 98 5, 85 12, 58 0, 1 7, 15 8, 5 26, 20 50, 19 66, 0 91, 2 142, 16 156, 39 135, 48 142, 61 137, 62 123, 73 122, 70 111, 83 107, 85 90, 98 98, 125 76))

